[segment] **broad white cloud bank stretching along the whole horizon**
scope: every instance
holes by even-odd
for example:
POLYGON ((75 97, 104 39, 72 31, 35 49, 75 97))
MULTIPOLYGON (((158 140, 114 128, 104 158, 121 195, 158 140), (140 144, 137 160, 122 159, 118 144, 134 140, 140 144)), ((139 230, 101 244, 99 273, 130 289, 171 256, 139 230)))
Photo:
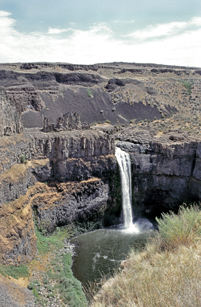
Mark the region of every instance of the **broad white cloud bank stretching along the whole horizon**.
POLYGON ((113 61, 201 66, 201 17, 188 22, 149 26, 132 36, 115 38, 106 23, 87 30, 49 28, 48 33, 21 33, 10 13, 0 14, 0 62, 113 61), (153 40, 154 38, 154 40, 153 40))

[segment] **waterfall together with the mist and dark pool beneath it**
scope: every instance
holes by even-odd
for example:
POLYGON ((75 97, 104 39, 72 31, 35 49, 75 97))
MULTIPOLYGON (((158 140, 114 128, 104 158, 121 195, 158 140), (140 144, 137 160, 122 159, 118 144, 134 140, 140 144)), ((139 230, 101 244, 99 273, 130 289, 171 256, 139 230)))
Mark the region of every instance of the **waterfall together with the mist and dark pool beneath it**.
POLYGON ((118 147, 115 156, 121 176, 124 223, 70 239, 71 243, 78 242, 73 269, 75 277, 84 286, 103 276, 112 276, 131 247, 145 246, 147 238, 154 235, 154 227, 149 220, 139 218, 133 223, 130 157, 118 147))

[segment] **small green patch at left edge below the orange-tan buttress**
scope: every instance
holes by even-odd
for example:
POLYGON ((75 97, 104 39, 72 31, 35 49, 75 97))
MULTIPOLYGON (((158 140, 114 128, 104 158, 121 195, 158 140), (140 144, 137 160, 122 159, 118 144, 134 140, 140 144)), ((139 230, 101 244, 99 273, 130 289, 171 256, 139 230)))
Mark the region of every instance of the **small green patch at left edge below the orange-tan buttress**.
POLYGON ((21 266, 4 266, 0 264, 0 273, 5 277, 11 276, 16 279, 29 277, 29 270, 25 264, 22 264, 21 266))

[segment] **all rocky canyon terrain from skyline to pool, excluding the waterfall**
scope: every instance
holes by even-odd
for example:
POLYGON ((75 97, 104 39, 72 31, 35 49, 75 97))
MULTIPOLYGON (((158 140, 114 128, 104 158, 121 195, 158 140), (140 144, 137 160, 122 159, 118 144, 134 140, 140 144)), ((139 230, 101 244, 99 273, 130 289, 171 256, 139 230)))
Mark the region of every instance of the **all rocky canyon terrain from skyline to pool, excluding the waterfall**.
POLYGON ((115 146, 131 157, 136 217, 200 200, 198 69, 13 65, 0 71, 1 263, 36 257, 34 223, 48 234, 122 221, 115 146))

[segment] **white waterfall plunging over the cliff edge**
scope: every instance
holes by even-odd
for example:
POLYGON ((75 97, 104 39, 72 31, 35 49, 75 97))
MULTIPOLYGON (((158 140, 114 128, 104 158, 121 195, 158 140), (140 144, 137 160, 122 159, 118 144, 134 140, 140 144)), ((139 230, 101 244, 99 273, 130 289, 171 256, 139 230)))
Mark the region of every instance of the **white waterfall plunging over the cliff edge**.
POLYGON ((131 163, 130 156, 125 151, 116 147, 115 156, 120 169, 122 187, 122 208, 124 214, 124 229, 126 231, 138 232, 138 228, 133 224, 132 196, 131 196, 131 163))

